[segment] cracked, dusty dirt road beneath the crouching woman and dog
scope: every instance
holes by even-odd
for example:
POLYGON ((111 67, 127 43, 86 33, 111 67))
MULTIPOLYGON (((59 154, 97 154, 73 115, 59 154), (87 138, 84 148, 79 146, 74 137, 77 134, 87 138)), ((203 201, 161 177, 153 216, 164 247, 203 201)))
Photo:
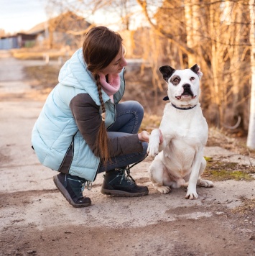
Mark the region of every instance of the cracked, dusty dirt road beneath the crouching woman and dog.
MULTIPOLYGON (((215 182, 185 200, 184 188, 154 191, 148 158, 131 169, 148 196, 104 196, 98 175, 84 191, 92 206, 70 206, 52 182, 55 171, 31 149, 43 105, 22 73, 32 63, 0 56, 0 255, 255 255, 254 180, 215 182)), ((249 164, 221 147, 206 147, 205 155, 249 164)))

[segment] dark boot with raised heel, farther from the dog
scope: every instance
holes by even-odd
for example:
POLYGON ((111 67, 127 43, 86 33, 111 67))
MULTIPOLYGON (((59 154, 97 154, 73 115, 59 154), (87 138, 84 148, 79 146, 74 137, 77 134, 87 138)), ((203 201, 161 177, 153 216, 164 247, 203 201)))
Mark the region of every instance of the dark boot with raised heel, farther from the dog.
POLYGON ((85 179, 70 174, 59 173, 53 181, 65 199, 73 207, 86 207, 91 205, 91 198, 83 197, 85 179))

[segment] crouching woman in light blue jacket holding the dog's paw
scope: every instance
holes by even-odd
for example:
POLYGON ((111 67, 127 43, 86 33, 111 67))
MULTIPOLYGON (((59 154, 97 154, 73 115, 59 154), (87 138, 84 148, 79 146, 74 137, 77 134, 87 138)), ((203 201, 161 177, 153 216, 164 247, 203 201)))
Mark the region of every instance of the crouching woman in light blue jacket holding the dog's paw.
POLYGON ((42 165, 60 173, 55 185, 74 207, 91 205, 83 196, 97 173, 101 193, 145 196, 129 165, 147 156, 149 134, 140 132, 144 110, 136 101, 119 103, 124 94, 124 47, 121 36, 94 27, 60 70, 59 83, 47 97, 32 131, 32 146, 42 165))

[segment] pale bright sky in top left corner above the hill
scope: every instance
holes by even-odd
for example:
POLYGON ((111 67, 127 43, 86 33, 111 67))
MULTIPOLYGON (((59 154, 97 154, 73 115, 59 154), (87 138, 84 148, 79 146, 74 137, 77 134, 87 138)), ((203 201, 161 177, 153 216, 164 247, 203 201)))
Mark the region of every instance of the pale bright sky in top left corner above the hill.
POLYGON ((11 34, 45 22, 46 0, 0 0, 0 29, 11 34))

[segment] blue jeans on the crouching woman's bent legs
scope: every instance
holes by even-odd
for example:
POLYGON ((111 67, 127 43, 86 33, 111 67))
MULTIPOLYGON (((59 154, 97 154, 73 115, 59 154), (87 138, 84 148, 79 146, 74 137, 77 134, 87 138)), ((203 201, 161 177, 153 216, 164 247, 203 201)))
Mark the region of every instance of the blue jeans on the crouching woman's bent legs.
MULTIPOLYGON (((108 137, 122 137, 138 133, 143 117, 144 108, 137 101, 125 101, 116 104, 116 121, 107 130, 108 137)), ((144 160, 147 157, 148 143, 142 142, 142 146, 142 152, 112 157, 111 162, 106 163, 106 165, 101 163, 98 173, 144 160)))

